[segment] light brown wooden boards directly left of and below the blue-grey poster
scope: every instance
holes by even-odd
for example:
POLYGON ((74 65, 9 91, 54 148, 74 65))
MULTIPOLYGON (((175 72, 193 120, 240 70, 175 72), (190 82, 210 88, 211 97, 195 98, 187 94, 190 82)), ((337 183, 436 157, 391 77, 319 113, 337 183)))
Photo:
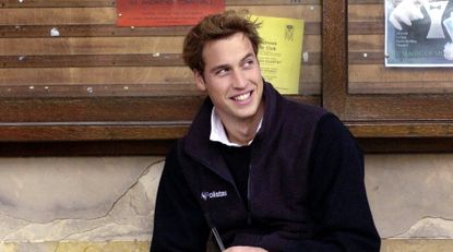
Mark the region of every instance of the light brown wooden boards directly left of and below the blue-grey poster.
POLYGON ((453 93, 453 83, 448 81, 453 80, 450 68, 384 67, 384 1, 349 1, 348 93, 453 93))

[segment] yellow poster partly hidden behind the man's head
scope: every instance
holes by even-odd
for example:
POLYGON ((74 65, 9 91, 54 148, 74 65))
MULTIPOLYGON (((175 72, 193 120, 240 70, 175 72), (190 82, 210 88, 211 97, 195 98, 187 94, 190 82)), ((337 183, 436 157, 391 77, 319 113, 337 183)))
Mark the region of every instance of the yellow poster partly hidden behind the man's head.
POLYGON ((252 15, 263 38, 258 59, 264 80, 281 94, 298 94, 302 58, 303 20, 252 15))

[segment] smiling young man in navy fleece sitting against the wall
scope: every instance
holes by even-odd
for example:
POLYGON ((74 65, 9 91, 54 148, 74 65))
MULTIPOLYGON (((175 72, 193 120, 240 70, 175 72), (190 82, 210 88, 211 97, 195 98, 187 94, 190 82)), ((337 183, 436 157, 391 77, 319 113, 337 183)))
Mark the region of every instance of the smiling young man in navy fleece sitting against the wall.
POLYGON ((257 27, 227 11, 186 37, 208 98, 167 156, 151 251, 206 251, 212 230, 228 252, 379 251, 356 143, 263 81, 257 27))

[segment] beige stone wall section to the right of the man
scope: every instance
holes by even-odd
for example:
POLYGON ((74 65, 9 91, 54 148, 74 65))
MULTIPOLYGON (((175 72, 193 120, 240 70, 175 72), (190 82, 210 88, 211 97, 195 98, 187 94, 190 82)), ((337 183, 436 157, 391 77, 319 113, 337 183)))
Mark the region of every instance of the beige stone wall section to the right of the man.
POLYGON ((453 251, 453 155, 367 155, 381 251, 453 251))

